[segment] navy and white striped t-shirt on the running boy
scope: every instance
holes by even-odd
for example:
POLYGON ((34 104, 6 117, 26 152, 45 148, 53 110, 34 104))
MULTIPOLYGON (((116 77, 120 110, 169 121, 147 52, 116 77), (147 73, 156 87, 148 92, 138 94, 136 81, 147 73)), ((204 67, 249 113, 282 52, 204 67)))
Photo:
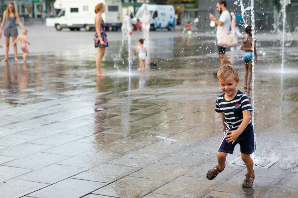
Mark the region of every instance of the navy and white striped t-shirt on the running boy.
POLYGON ((224 123, 229 131, 238 129, 243 121, 243 112, 248 110, 253 110, 248 97, 239 90, 232 100, 226 101, 224 94, 222 94, 217 97, 215 102, 215 112, 224 113, 224 123))

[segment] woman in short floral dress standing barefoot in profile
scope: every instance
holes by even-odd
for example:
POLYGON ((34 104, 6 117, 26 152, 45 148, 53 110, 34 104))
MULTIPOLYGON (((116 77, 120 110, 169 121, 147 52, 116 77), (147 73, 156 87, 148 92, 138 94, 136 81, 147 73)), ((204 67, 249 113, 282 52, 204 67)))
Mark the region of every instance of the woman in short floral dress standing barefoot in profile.
POLYGON ((103 61, 103 56, 105 55, 105 47, 108 47, 107 34, 105 33, 105 23, 101 17, 102 13, 105 12, 105 5, 99 3, 95 7, 95 35, 94 35, 94 45, 97 47, 98 54, 96 58, 96 75, 97 76, 107 76, 101 71, 101 63, 103 61))

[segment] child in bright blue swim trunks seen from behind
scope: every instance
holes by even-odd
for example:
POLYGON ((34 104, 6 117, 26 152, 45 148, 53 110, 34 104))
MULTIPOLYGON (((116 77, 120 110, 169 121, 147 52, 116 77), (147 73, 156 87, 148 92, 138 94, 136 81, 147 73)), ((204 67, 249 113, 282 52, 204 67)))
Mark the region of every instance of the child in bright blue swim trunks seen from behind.
MULTIPOLYGON (((250 82, 252 80, 252 26, 245 28, 248 37, 244 38, 241 44, 241 50, 244 50, 243 59, 245 64, 244 89, 252 89, 250 82)), ((254 41, 254 61, 257 62, 256 41, 254 41)))

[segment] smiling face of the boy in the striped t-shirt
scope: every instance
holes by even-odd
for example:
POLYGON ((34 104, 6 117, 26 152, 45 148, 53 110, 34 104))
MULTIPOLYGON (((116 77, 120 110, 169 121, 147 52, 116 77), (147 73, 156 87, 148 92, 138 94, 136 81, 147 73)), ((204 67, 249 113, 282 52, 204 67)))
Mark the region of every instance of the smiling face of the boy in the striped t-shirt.
POLYGON ((236 81, 231 74, 225 80, 219 77, 218 81, 221 86, 221 91, 224 92, 225 97, 227 96, 228 99, 233 99, 238 92, 236 88, 239 85, 239 80, 236 81))

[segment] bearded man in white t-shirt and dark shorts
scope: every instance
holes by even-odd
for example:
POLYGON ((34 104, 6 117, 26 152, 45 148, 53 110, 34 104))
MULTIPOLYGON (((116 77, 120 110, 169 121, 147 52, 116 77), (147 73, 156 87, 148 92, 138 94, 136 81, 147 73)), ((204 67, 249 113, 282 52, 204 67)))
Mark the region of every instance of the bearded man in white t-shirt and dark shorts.
MULTIPOLYGON (((218 39, 224 31, 230 31, 231 27, 231 16, 229 11, 226 9, 226 1, 221 0, 218 1, 216 4, 216 10, 221 14, 219 17, 219 20, 215 19, 215 16, 210 14, 210 20, 213 20, 215 22, 215 25, 217 26, 216 30, 216 39, 218 39)), ((226 57, 226 48, 217 46, 218 49, 218 55, 219 58, 221 59, 221 66, 224 64, 231 64, 229 59, 226 57)))

